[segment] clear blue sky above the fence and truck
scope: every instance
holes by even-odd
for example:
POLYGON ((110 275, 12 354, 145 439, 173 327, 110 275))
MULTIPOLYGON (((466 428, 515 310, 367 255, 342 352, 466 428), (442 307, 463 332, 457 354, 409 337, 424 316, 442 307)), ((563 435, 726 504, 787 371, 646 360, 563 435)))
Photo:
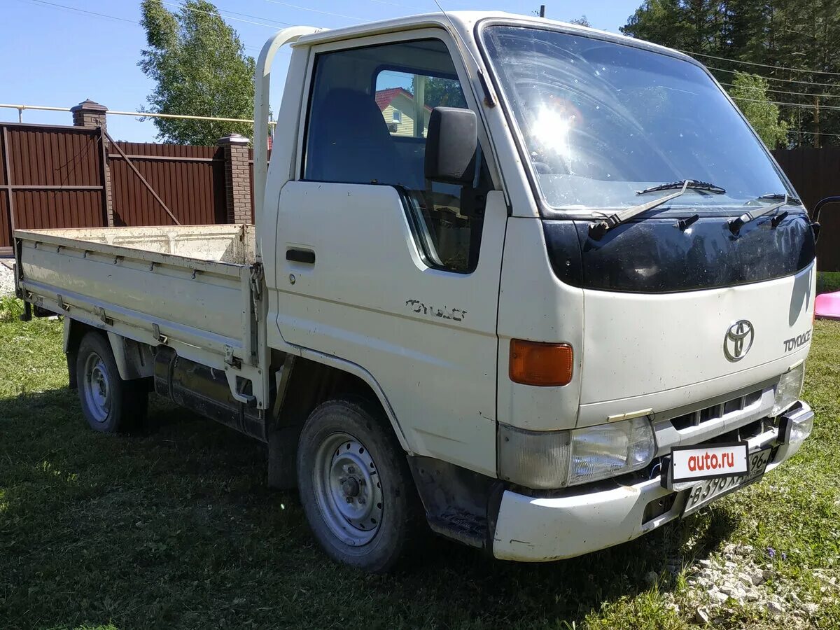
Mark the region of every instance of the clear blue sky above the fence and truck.
MULTIPOLYGON (((641 2, 440 1, 447 10, 497 9, 511 13, 531 13, 544 3, 549 17, 570 19, 585 14, 592 26, 613 32, 626 23, 641 2)), ((174 9, 178 0, 164 3, 174 9)), ((437 10, 433 0, 218 0, 215 4, 252 56, 259 53, 265 39, 286 24, 337 28, 437 10)), ((139 19, 139 0, 0 0, 0 103, 72 107, 91 98, 113 110, 137 111, 152 88, 137 66, 145 45, 139 19)), ((278 56, 276 66, 283 66, 287 59, 278 56)), ((280 96, 283 81, 283 73, 278 74, 281 76, 272 76, 277 87, 272 90, 273 102, 280 96)), ((16 110, 0 109, 0 120, 17 119, 16 110)), ((70 113, 24 112, 24 123, 70 122, 70 113)), ((115 139, 155 139, 150 121, 127 116, 109 116, 108 131, 115 139)))

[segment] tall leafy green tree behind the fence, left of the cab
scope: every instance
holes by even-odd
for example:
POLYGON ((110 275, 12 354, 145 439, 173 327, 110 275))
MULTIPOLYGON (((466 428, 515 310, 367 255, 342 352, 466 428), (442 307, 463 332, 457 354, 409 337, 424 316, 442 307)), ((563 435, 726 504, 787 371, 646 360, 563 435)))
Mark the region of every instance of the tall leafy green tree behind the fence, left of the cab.
MULTIPOLYGON (((177 13, 161 0, 143 0, 141 24, 148 48, 138 66, 155 81, 150 113, 216 118, 254 117, 254 59, 239 35, 207 0, 186 0, 177 13)), ((153 118, 158 139, 176 144, 216 144, 228 134, 251 136, 249 123, 153 118)))

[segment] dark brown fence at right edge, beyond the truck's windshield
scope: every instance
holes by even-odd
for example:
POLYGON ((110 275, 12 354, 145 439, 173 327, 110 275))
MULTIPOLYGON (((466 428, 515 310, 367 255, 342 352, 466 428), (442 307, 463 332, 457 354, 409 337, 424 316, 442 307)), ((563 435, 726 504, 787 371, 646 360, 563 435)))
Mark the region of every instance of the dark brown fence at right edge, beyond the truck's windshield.
MULTIPOLYGON (((840 148, 776 150, 773 155, 809 210, 823 197, 840 195, 840 148)), ((840 206, 822 210, 820 223, 817 268, 840 271, 840 206)))

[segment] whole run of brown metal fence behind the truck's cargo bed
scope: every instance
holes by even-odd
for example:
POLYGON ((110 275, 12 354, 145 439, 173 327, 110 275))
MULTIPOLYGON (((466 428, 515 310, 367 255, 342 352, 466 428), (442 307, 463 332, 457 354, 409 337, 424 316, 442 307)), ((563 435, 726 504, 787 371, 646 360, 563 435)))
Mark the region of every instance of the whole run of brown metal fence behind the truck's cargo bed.
POLYGON ((223 148, 0 123, 0 255, 17 228, 227 223, 223 148))

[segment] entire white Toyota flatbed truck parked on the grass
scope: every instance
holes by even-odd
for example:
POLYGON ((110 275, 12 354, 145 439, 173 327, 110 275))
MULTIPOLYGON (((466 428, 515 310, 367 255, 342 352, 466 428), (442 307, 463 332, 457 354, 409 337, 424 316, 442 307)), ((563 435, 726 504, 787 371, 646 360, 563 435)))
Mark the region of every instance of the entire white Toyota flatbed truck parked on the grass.
POLYGON ((296 27, 255 113, 255 226, 15 233, 97 431, 155 391, 262 440, 371 571, 427 522, 497 559, 603 549, 811 433, 818 228, 696 60, 504 13, 296 27))

